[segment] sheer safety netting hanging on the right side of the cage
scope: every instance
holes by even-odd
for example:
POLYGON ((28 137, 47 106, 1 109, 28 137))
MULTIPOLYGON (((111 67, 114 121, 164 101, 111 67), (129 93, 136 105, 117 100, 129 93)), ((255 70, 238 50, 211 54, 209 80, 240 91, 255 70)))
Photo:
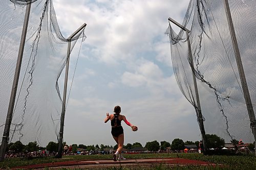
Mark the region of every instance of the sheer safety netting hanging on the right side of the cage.
POLYGON ((177 83, 195 107, 200 128, 202 120, 206 134, 217 134, 225 142, 242 139, 251 143, 255 122, 250 121, 249 112, 256 111, 256 1, 226 2, 190 0, 182 29, 175 32, 177 25, 169 21, 166 34, 177 83), (232 33, 236 35, 238 48, 234 47, 232 33), (241 83, 245 82, 240 78, 236 50, 241 56, 251 109, 247 109, 241 83))

